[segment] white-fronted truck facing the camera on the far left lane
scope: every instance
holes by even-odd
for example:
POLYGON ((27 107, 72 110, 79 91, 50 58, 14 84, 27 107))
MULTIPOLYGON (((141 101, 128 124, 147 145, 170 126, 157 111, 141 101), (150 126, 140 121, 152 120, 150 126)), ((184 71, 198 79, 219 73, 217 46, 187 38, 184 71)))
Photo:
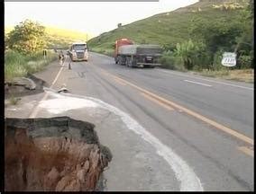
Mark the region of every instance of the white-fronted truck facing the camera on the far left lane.
POLYGON ((86 42, 75 42, 69 48, 69 57, 72 61, 87 61, 88 51, 86 42))

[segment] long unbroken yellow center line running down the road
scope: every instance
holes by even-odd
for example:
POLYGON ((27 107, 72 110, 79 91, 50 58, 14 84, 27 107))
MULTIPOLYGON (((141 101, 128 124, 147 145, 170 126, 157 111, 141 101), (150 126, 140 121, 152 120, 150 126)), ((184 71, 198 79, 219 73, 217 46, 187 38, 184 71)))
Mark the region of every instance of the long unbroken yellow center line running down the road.
MULTIPOLYGON (((102 71, 105 72, 105 70, 102 70, 102 71)), ((149 91, 147 91, 147 90, 145 90, 145 89, 143 89, 143 88, 141 88, 141 87, 139 87, 139 86, 137 86, 135 84, 132 84, 132 83, 124 80, 123 78, 120 78, 120 77, 116 76, 116 75, 111 75, 111 74, 106 73, 106 72, 105 72, 105 74, 106 75, 110 75, 110 76, 112 76, 115 79, 118 79, 120 81, 123 81, 123 83, 125 83, 125 84, 133 86, 134 88, 136 88, 137 90, 141 91, 142 93, 146 93, 149 96, 151 96, 152 98, 155 98, 156 100, 161 101, 162 103, 165 103, 165 104, 167 104, 167 105, 169 105, 169 106, 171 106, 173 108, 176 108, 178 110, 182 110, 182 111, 186 112, 188 115, 191 115, 191 116, 193 116, 193 117, 195 117, 197 119, 200 119, 200 120, 206 122, 207 124, 217 128, 219 130, 222 130, 225 133, 227 133, 227 134, 229 134, 229 135, 231 135, 233 137, 236 137, 236 138, 238 138, 238 139, 240 139, 240 140, 242 140, 242 141, 244 141, 244 142, 246 142, 248 144, 254 145, 254 140, 253 139, 251 139, 250 137, 244 136, 243 134, 233 130, 232 128, 227 128, 224 125, 222 125, 220 123, 217 123, 217 122, 215 122, 212 119, 208 119, 208 118, 198 114, 197 112, 195 112, 193 110, 188 110, 187 108, 185 108, 185 107, 183 107, 181 105, 178 105, 177 103, 175 103, 173 101, 169 101, 167 99, 164 99, 164 98, 160 97, 159 95, 157 95, 155 93, 151 93, 151 92, 149 92, 149 91)))

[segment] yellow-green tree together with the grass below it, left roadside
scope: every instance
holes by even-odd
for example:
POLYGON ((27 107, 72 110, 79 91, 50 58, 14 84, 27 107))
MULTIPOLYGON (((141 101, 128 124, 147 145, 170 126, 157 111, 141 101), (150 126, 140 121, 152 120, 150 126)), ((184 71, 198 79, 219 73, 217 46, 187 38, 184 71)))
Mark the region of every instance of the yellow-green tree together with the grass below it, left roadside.
POLYGON ((42 50, 47 45, 45 35, 44 26, 29 20, 5 34, 5 81, 38 72, 57 59, 56 53, 50 50, 43 57, 42 50))

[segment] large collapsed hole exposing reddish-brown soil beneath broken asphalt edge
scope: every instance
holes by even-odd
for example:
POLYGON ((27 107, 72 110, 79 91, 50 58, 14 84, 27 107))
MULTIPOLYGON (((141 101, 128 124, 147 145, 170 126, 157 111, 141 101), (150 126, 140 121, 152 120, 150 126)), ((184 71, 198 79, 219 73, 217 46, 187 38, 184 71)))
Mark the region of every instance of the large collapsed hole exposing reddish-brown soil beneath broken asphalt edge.
POLYGON ((68 117, 5 119, 5 190, 96 190, 112 154, 94 127, 68 117))

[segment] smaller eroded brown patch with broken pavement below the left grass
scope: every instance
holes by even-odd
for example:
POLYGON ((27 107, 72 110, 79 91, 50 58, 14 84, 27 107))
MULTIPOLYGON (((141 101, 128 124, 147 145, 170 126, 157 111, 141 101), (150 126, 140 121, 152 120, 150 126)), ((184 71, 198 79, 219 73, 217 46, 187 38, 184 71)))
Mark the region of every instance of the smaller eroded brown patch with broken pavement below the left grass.
POLYGON ((43 86, 48 86, 46 82, 34 75, 28 75, 27 79, 35 85, 35 88, 29 88, 28 84, 23 82, 23 79, 21 79, 21 81, 5 83, 5 99, 11 96, 22 97, 25 95, 43 93, 43 86))

